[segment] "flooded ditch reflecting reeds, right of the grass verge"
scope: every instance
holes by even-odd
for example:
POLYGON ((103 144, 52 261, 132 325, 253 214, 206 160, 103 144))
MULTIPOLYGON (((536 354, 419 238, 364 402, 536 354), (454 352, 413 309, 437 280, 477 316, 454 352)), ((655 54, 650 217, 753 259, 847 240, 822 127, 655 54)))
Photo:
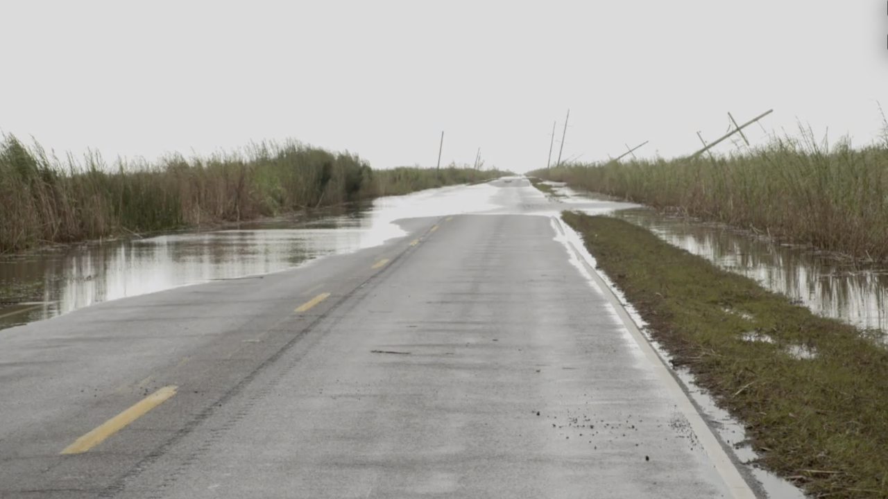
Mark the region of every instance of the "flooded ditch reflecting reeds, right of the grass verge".
POLYGON ((724 226, 663 216, 654 210, 621 210, 614 215, 722 268, 755 279, 814 313, 861 328, 888 330, 888 269, 842 263, 811 249, 775 245, 724 226))

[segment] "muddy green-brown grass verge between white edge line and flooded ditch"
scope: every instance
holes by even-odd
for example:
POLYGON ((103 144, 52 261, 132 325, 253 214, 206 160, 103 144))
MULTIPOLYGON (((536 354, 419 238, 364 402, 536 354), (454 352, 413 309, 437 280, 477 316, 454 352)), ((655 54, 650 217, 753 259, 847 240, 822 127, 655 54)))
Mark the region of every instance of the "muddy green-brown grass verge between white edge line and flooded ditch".
POLYGON ((888 497, 880 333, 814 315, 629 222, 564 220, 674 363, 747 426, 759 465, 814 497, 888 497))

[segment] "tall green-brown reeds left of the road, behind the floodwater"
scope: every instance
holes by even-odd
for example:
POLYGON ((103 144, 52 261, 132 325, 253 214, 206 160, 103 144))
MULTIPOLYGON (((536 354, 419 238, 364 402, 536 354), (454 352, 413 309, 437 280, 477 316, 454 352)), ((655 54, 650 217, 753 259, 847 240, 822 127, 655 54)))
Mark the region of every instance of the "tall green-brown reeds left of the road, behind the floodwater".
POLYGON ((274 217, 502 176, 497 170, 372 170, 356 154, 296 141, 156 162, 65 160, 12 136, 0 142, 0 253, 225 221, 274 217))

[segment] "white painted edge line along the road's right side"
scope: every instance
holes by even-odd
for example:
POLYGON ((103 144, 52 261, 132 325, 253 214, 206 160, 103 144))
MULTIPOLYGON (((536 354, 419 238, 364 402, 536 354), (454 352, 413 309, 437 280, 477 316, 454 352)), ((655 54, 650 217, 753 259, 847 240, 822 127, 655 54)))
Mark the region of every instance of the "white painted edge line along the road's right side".
MULTIPOLYGON (((718 441, 715 433, 712 432, 709 425, 703 421, 700 413, 697 412, 697 409, 694 407, 694 404, 688 398, 687 394, 684 390, 682 390, 681 386, 678 384, 678 381, 670 374, 669 368, 666 366, 666 363, 662 360, 660 355, 654 350, 654 347, 647 341, 647 337, 641 333, 638 329, 638 325, 635 321, 632 321, 630 314, 626 311, 626 309, 620 303, 619 298, 614 294, 614 290, 607 285, 607 281, 605 281, 599 271, 591 265, 589 258, 586 255, 586 251, 580 251, 576 249, 574 242, 569 241, 569 239, 574 239, 582 244, 582 237, 577 234, 573 228, 567 226, 563 221, 561 221, 560 217, 552 217, 553 221, 557 222, 557 226, 559 227, 562 234, 569 234, 567 236, 568 241, 567 245, 574 251, 576 257, 583 263, 583 266, 586 268, 589 275, 601 289, 602 293, 607 297, 607 301, 614 308, 614 311, 622 320, 623 326, 629 330, 630 335, 635 339, 635 342, 638 344, 638 347, 644 352, 645 357, 651 363, 651 366, 654 368, 654 372, 657 373, 657 376, 660 377, 660 380, 666 388, 669 390, 672 395, 672 399, 675 400, 678 408, 681 408, 681 412, 687 418, 687 421, 691 424, 691 427, 694 429, 694 433, 697 435, 697 438, 700 439, 700 442, 703 445, 703 449, 706 451, 706 454, 709 455, 710 460, 715 465, 716 470, 718 471, 719 476, 725 481, 725 486, 728 487, 734 499, 756 499, 756 494, 752 491, 752 488, 749 487, 749 484, 746 483, 746 480, 740 474, 740 471, 737 470, 737 467, 734 466, 731 458, 725 453, 725 449, 722 448, 721 443, 718 441)), ((585 246, 583 246, 585 249, 585 246)))

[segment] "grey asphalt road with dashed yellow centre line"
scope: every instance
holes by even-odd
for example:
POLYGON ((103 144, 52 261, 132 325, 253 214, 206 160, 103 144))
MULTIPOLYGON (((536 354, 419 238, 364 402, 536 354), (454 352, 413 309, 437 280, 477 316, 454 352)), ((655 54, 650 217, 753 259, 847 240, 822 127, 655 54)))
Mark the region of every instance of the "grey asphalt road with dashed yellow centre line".
POLYGON ((0 331, 0 496, 734 497, 565 206, 484 187, 353 254, 0 331))

